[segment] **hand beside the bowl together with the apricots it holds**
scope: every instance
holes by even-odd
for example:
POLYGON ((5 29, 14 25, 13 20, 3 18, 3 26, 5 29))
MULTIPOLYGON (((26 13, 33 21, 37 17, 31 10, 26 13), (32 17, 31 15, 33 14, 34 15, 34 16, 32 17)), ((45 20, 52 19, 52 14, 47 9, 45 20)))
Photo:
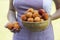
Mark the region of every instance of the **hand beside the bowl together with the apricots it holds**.
POLYGON ((21 29, 21 26, 18 24, 18 22, 13 23, 7 23, 6 28, 8 28, 11 32, 19 32, 21 29))

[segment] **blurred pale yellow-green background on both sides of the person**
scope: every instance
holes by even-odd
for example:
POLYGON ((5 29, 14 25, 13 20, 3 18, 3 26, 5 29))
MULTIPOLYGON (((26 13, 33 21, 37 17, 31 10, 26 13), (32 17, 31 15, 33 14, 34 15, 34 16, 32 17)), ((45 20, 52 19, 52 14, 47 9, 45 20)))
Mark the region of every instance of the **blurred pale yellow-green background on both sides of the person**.
MULTIPOLYGON (((7 12, 9 0, 0 0, 0 40, 12 40, 13 33, 4 27, 7 21, 7 12)), ((54 3, 52 3, 51 15, 56 11, 54 3)), ((60 19, 52 21, 54 29, 54 39, 60 40, 60 19)))

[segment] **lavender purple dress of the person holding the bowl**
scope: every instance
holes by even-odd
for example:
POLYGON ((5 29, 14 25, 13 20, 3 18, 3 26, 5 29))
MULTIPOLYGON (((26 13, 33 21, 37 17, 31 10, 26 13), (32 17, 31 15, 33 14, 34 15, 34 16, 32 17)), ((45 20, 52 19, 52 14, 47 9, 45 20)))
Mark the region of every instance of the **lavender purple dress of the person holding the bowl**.
MULTIPOLYGON (((17 11, 17 20, 22 26, 20 16, 28 9, 34 8, 36 10, 43 8, 43 0, 13 0, 13 6, 17 11)), ((42 32, 30 32, 24 27, 19 33, 14 34, 13 40, 54 40, 53 28, 50 24, 49 27, 42 32)))

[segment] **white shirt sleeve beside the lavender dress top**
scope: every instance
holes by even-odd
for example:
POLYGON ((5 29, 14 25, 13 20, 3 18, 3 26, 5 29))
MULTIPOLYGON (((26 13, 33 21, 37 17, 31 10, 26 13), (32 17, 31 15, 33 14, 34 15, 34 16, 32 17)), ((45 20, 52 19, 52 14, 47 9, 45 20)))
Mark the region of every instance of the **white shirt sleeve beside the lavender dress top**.
POLYGON ((43 0, 43 9, 50 14, 52 10, 52 0, 43 0))

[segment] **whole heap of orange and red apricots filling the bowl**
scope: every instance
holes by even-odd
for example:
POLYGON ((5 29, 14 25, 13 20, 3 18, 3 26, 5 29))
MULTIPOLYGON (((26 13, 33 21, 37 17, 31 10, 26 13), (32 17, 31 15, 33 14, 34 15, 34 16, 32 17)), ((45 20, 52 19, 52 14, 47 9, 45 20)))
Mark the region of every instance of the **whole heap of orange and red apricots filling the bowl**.
POLYGON ((48 20, 48 13, 44 9, 34 10, 29 8, 21 15, 21 19, 28 22, 41 22, 48 20))

